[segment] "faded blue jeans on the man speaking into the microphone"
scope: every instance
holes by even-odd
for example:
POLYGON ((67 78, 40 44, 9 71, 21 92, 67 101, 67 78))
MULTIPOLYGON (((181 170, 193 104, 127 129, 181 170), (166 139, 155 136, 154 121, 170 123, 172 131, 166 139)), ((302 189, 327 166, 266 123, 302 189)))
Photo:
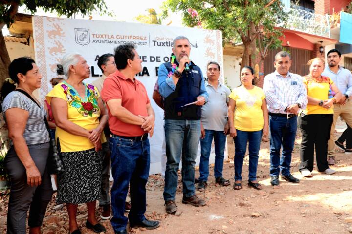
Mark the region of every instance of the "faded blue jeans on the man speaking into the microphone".
POLYGON ((200 140, 200 120, 165 120, 166 170, 164 200, 175 200, 178 166, 182 156, 183 196, 195 195, 195 169, 200 140), (184 150, 183 154, 182 148, 184 150))

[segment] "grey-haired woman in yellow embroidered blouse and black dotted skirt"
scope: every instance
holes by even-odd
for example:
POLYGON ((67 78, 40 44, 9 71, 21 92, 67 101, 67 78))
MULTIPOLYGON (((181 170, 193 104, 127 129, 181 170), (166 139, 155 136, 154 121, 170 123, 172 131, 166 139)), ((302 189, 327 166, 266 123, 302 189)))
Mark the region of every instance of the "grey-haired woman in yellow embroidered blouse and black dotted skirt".
POLYGON ((102 131, 108 115, 97 89, 83 82, 89 78, 90 70, 81 55, 67 54, 57 67, 57 73, 67 79, 46 96, 57 126, 55 139, 65 169, 58 175, 57 200, 67 204, 71 234, 81 233, 76 221, 79 203, 87 203, 87 228, 105 232, 95 217, 95 203, 100 198, 101 143, 106 142, 102 131))

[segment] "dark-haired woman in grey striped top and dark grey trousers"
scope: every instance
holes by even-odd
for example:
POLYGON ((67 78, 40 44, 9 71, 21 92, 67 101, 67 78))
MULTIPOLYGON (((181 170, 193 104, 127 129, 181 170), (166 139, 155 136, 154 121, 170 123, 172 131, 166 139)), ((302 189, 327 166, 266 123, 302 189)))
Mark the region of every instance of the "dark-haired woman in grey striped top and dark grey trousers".
POLYGON ((46 111, 33 96, 42 75, 34 60, 14 59, 1 88, 3 115, 11 139, 5 168, 11 180, 7 212, 7 234, 40 234, 46 207, 52 196, 48 172, 50 137, 45 126, 46 111), (17 84, 17 88, 15 86, 17 84))

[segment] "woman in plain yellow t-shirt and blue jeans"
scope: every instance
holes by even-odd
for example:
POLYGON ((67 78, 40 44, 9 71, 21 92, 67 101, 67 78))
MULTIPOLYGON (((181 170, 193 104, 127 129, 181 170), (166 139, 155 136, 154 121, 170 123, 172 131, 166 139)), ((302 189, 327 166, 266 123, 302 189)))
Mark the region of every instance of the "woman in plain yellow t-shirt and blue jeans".
POLYGON ((257 180, 258 153, 262 134, 269 132, 269 115, 264 91, 253 84, 254 71, 245 66, 241 71, 242 85, 229 95, 228 118, 230 136, 235 141, 235 184, 234 189, 242 189, 242 166, 247 149, 249 151, 248 186, 262 189, 257 180))

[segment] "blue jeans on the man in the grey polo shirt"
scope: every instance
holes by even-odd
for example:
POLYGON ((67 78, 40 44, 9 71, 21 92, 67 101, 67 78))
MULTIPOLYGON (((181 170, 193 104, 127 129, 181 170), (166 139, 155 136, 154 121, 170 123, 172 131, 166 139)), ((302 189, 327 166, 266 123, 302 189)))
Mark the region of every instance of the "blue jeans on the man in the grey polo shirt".
POLYGON ((223 159, 225 157, 225 143, 226 135, 223 131, 214 131, 205 129, 205 137, 200 140, 200 163, 199 163, 199 180, 207 181, 209 176, 209 156, 211 150, 211 144, 214 138, 215 145, 215 165, 214 165, 214 176, 222 177, 223 159))

